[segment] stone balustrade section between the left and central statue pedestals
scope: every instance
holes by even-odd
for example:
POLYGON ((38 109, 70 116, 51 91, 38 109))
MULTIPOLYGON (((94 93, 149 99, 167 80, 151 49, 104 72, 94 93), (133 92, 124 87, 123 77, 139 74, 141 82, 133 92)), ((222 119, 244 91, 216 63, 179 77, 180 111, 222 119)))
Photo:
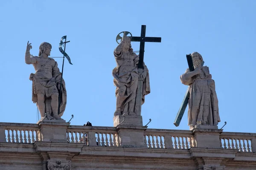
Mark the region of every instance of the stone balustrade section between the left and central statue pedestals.
POLYGON ((119 146, 115 127, 73 126, 67 128, 67 141, 85 143, 88 146, 119 146))

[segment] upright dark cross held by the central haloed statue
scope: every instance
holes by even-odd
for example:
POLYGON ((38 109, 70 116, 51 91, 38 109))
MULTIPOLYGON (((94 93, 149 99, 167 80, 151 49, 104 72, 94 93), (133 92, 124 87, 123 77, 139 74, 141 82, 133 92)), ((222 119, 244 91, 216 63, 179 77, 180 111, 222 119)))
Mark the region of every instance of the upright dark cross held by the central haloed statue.
POLYGON ((145 37, 146 36, 146 26, 141 26, 140 37, 131 37, 131 41, 140 42, 140 59, 138 68, 143 69, 143 59, 144 59, 144 47, 145 42, 161 42, 161 37, 145 37))

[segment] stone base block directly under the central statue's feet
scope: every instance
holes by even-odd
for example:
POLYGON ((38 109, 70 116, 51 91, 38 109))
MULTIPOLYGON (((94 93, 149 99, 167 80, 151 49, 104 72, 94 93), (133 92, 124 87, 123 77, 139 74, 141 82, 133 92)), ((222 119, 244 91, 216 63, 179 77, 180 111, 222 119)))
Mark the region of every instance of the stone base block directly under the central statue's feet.
POLYGON ((143 126, 142 116, 114 116, 114 127, 117 125, 122 126, 143 126))

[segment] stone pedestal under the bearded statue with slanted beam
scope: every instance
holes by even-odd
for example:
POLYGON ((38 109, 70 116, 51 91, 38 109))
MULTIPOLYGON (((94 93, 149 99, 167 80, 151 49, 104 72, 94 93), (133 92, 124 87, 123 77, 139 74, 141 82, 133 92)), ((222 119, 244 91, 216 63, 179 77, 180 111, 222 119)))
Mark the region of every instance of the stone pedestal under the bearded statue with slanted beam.
POLYGON ((216 127, 217 129, 203 129, 202 126, 201 128, 194 128, 192 133, 195 136, 196 147, 221 149, 220 133, 222 133, 222 129, 216 127))

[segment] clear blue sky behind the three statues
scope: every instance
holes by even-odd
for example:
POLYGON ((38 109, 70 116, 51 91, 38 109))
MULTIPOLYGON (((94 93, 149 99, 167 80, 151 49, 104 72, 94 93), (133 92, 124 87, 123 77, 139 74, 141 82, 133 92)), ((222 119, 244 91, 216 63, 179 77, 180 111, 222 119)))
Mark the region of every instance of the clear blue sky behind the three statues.
MULTIPOLYGON (((35 70, 26 65, 26 43, 38 55, 41 42, 52 44, 51 57, 61 57, 58 45, 67 35, 64 80, 67 108, 62 118, 74 115, 72 125, 90 121, 113 126, 116 98, 112 70, 116 35, 130 31, 162 37, 145 44, 151 94, 142 106, 148 128, 188 130, 187 111, 179 127, 173 125, 187 86, 180 75, 187 68, 186 54, 198 51, 215 80, 224 131, 256 132, 254 0, 5 0, 0 5, 0 122, 37 122, 31 101, 35 70)), ((134 51, 139 42, 133 42, 134 51)), ((55 59, 59 68, 62 59, 55 59)))

